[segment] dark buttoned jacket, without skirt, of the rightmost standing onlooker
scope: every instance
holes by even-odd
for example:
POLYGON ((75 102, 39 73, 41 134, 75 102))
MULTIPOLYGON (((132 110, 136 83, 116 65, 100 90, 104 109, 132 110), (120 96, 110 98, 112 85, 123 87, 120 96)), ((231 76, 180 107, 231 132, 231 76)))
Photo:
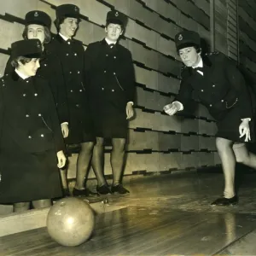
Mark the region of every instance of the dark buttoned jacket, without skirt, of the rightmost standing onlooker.
POLYGON ((122 45, 111 49, 105 39, 89 44, 84 53, 84 79, 93 108, 107 102, 107 106, 111 103, 125 109, 127 102, 134 102, 131 52, 122 45))

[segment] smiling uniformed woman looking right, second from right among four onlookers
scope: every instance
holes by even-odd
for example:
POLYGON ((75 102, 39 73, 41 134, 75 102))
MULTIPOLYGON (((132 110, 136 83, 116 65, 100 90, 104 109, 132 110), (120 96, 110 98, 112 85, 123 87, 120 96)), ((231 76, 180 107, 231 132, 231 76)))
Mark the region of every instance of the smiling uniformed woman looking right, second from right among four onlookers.
POLYGON ((84 46, 82 42, 73 38, 79 28, 79 21, 79 7, 73 4, 57 6, 55 26, 58 34, 54 36, 49 47, 61 61, 65 81, 63 90, 67 94, 69 114, 69 135, 65 143, 67 148, 79 145, 73 195, 97 196, 96 192, 86 188, 86 173, 90 168, 95 136, 87 103, 88 94, 84 87, 84 46))

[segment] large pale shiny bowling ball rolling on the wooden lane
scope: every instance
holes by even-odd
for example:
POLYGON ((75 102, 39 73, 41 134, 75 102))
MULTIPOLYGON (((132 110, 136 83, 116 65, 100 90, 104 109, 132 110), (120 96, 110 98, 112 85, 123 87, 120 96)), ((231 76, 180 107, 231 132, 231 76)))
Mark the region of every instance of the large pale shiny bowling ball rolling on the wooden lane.
POLYGON ((87 241, 95 226, 95 215, 90 205, 79 198, 63 198, 49 209, 47 220, 49 236, 66 247, 87 241))

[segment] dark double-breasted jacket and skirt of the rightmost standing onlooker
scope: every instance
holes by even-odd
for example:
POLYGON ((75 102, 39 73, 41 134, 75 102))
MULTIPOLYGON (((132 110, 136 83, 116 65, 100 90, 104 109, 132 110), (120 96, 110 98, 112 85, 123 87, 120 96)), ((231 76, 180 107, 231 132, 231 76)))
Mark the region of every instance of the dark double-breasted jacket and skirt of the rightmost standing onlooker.
POLYGON ((107 41, 89 44, 84 52, 84 80, 96 137, 125 138, 125 108, 134 102, 135 75, 131 52, 107 41))

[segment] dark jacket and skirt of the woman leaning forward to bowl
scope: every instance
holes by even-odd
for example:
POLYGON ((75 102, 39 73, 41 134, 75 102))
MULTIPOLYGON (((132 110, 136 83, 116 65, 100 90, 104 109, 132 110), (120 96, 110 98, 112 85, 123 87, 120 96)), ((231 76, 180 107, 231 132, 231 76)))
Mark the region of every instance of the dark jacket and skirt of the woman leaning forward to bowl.
MULTIPOLYGON (((236 65, 219 52, 202 56, 203 67, 198 73, 192 67, 184 67, 176 101, 186 108, 191 99, 207 107, 218 125, 217 137, 234 142, 239 138, 241 119, 250 118, 253 125, 253 105, 247 84, 236 65)), ((253 126, 251 137, 254 137, 253 126)))

